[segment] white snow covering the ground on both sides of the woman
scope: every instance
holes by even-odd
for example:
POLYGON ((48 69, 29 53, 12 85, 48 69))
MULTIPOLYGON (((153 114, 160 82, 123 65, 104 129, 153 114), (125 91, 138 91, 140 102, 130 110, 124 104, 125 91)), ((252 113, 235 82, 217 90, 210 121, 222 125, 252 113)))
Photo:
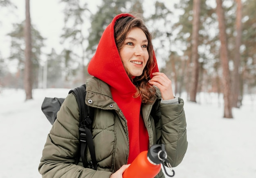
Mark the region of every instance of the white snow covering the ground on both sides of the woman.
MULTIPOLYGON (((69 89, 34 89, 25 102, 21 89, 0 93, 0 178, 40 178, 38 164, 51 124, 41 111, 45 97, 67 96, 69 89)), ((182 96, 183 97, 183 96, 182 96)), ((184 99, 186 96, 184 95, 184 99)), ((221 98, 221 97, 220 97, 221 98)), ((200 104, 186 102, 189 147, 174 178, 255 178, 256 101, 245 96, 234 119, 223 116, 216 94, 200 93, 200 104)))

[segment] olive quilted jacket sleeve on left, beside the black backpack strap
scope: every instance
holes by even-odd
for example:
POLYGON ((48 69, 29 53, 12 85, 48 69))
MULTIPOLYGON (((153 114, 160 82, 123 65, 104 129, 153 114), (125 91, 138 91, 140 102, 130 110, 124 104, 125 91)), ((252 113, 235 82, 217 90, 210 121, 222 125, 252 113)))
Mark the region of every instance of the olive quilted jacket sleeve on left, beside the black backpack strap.
POLYGON ((69 94, 47 136, 39 172, 43 178, 109 178, 108 171, 95 171, 75 165, 79 150, 79 109, 74 94, 69 94))

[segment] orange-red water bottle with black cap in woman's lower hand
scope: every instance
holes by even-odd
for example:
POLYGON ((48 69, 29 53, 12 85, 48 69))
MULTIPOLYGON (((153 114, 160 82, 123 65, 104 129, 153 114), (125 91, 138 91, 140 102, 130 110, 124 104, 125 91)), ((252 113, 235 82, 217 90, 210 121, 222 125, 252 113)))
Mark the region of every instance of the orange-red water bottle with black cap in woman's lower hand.
POLYGON ((154 178, 161 170, 161 151, 161 145, 153 145, 148 151, 142 151, 124 171, 123 178, 154 178))

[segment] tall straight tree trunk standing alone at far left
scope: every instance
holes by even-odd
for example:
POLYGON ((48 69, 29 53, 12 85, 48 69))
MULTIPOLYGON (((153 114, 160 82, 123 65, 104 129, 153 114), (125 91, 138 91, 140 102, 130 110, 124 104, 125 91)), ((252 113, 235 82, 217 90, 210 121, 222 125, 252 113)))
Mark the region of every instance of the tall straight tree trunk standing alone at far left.
POLYGON ((32 99, 32 62, 31 62, 31 22, 30 22, 29 0, 26 0, 26 24, 25 24, 25 69, 24 89, 26 100, 32 99))

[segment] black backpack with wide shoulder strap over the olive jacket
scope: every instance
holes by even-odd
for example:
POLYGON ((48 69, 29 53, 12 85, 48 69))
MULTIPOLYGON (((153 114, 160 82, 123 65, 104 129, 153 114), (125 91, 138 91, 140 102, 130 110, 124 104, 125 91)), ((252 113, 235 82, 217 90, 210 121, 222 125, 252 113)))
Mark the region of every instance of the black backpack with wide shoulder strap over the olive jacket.
MULTIPOLYGON (((70 90, 69 93, 74 93, 79 106, 80 151, 76 159, 76 165, 78 164, 79 158, 81 156, 83 161, 83 167, 90 167, 96 170, 97 161, 95 157, 91 133, 94 112, 92 107, 89 107, 85 104, 86 87, 85 85, 81 85, 80 87, 70 90), (89 148, 90 155, 92 158, 91 162, 87 162, 85 160, 85 151, 87 146, 89 148)), ((42 103, 42 111, 52 125, 57 118, 57 112, 61 108, 61 105, 64 102, 64 100, 65 98, 45 97, 42 103)))

